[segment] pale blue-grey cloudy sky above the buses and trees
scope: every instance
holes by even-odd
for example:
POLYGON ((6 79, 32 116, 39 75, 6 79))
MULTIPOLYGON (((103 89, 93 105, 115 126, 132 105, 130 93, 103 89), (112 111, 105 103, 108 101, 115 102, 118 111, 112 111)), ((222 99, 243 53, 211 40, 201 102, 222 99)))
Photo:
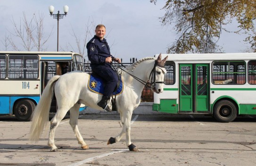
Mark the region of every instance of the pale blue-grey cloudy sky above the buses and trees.
MULTIPOLYGON (((130 58, 151 57, 158 53, 166 53, 167 47, 177 38, 173 25, 161 25, 159 17, 165 14, 166 0, 157 0, 157 4, 149 0, 0 0, 0 38, 1 41, 10 32, 14 32, 12 18, 19 24, 23 12, 31 19, 33 14, 44 15, 44 35, 50 38, 45 45, 46 51, 57 51, 57 20, 49 13, 49 6, 54 6, 53 14, 64 14, 63 7, 69 7, 66 17, 59 20, 59 50, 70 49, 70 43, 76 48, 73 30, 81 40, 84 38, 87 25, 104 24, 106 39, 111 54, 129 62, 130 58)), ((236 28, 236 24, 227 26, 228 30, 236 28)), ((94 33, 94 32, 93 32, 94 33)), ((94 35, 94 34, 92 34, 94 35)), ((248 50, 244 44, 246 36, 222 32, 218 45, 223 52, 240 53, 248 50)), ((89 38, 87 38, 89 39, 89 38)), ((91 37, 90 37, 91 39, 91 37)), ((89 39, 89 40, 90 40, 89 39)), ((19 45, 21 42, 15 38, 19 45)), ((0 42, 1 50, 4 49, 0 42)), ((22 47, 20 47, 22 48, 22 47)), ((10 47, 9 51, 13 51, 10 47)), ((77 52, 77 51, 76 51, 77 52)))

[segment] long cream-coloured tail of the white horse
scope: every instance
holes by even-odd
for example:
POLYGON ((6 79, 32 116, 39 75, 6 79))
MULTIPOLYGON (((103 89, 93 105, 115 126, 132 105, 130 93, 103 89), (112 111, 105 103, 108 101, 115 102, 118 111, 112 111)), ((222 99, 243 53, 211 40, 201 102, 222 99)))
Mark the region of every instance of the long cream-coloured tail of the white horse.
POLYGON ((54 83, 58 81, 59 75, 53 76, 47 83, 38 105, 32 114, 29 140, 38 141, 42 131, 49 121, 50 104, 53 96, 54 83))

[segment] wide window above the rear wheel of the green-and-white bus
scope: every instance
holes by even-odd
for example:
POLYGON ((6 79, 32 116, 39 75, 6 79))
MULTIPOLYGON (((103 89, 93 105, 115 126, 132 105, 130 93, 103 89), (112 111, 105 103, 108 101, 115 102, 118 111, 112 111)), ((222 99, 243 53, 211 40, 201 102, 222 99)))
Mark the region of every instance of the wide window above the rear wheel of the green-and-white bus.
POLYGON ((214 61, 212 80, 214 84, 245 84, 244 61, 214 61))

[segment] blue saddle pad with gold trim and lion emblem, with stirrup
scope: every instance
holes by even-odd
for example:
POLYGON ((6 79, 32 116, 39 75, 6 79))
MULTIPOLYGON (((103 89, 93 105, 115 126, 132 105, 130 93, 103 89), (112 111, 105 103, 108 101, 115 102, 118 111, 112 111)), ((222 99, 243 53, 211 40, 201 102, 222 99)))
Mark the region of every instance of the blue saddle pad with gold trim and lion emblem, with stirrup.
MULTIPOLYGON (((120 95, 124 90, 124 82, 122 80, 122 77, 121 75, 118 76, 119 82, 116 85, 115 91, 111 95, 112 110, 106 108, 107 111, 117 111, 116 96, 120 95)), ((99 77, 99 75, 97 75, 96 73, 92 73, 91 75, 89 75, 88 88, 95 93, 103 95, 105 88, 104 81, 102 80, 102 78, 99 77)))

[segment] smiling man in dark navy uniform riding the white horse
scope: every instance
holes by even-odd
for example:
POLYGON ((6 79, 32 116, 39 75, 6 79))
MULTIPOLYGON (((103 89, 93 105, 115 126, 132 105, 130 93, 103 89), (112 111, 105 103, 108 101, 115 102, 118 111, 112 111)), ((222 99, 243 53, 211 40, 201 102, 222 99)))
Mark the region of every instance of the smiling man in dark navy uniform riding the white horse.
POLYGON ((91 70, 98 74, 105 83, 103 97, 99 101, 98 106, 105 109, 111 94, 114 92, 118 83, 118 76, 111 68, 112 60, 121 63, 119 58, 115 58, 110 54, 107 40, 104 38, 106 27, 102 24, 96 26, 95 36, 87 43, 88 58, 91 61, 91 70))

